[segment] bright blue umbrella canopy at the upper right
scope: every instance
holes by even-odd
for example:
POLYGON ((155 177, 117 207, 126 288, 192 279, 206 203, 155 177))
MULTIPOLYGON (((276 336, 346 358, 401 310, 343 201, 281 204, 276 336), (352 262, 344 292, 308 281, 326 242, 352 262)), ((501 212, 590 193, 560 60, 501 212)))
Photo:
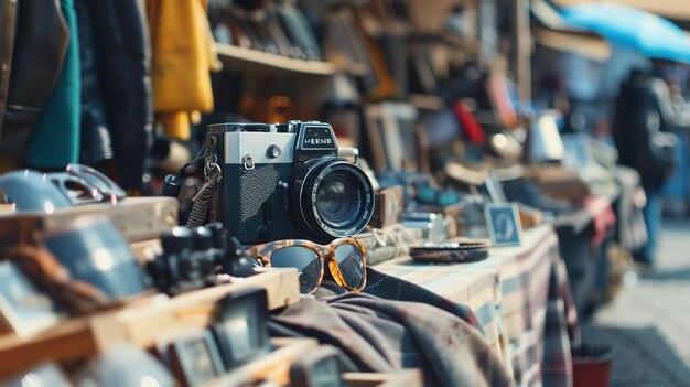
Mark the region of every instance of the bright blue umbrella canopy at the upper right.
POLYGON ((690 63, 690 39, 676 24, 654 13, 606 2, 563 8, 563 20, 640 54, 690 63))

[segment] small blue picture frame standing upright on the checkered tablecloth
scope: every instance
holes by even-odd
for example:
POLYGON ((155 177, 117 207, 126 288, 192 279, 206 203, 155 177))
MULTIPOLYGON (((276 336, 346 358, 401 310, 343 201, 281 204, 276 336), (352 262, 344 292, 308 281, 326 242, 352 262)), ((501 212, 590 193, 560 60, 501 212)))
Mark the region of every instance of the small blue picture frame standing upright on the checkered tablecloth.
POLYGON ((486 226, 494 246, 519 246, 522 225, 515 203, 489 203, 484 207, 486 226))

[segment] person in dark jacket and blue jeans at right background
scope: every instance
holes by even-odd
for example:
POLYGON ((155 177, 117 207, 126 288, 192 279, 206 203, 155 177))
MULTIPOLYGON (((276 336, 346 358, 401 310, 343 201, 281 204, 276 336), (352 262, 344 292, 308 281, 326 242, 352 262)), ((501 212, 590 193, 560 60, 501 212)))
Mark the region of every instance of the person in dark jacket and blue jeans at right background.
POLYGON ((648 243, 634 254, 646 269, 655 262, 662 186, 678 163, 679 141, 672 131, 690 129, 690 110, 684 99, 677 96, 683 68, 672 62, 651 62, 651 67, 630 72, 621 85, 612 122, 618 161, 639 172, 647 195, 643 212, 648 243))

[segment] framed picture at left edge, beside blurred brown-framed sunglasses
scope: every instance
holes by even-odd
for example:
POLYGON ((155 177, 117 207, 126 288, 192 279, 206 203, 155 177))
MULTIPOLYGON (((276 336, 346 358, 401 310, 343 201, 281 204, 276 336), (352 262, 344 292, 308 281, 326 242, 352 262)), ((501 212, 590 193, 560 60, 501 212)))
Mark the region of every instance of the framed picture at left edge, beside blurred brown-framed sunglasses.
POLYGON ((6 331, 25 337, 60 319, 53 300, 40 292, 20 268, 9 261, 0 262, 0 320, 6 331))

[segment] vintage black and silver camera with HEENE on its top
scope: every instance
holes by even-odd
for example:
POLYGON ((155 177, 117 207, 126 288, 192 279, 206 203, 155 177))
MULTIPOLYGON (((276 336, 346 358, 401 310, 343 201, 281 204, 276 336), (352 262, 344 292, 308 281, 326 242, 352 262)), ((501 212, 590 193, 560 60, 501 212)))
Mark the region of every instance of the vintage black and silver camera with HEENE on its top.
POLYGON ((344 159, 357 152, 338 148, 328 123, 212 125, 206 147, 222 171, 212 217, 242 244, 328 243, 371 218, 371 181, 344 159))

